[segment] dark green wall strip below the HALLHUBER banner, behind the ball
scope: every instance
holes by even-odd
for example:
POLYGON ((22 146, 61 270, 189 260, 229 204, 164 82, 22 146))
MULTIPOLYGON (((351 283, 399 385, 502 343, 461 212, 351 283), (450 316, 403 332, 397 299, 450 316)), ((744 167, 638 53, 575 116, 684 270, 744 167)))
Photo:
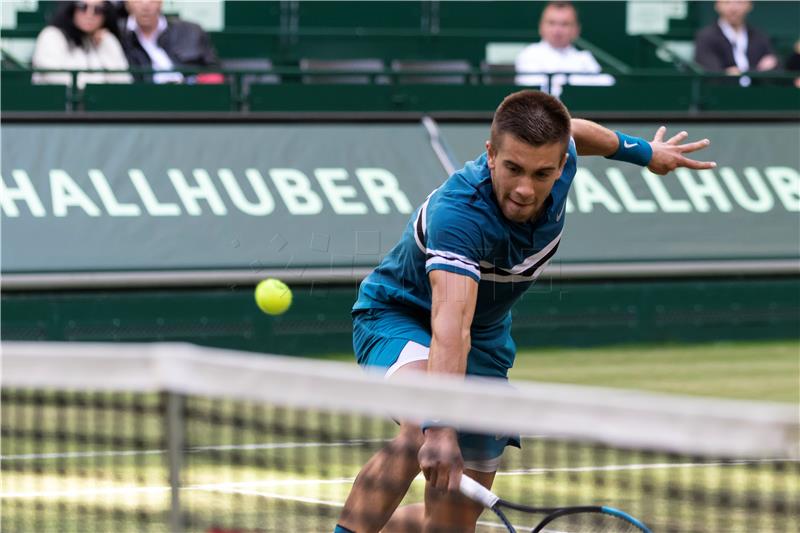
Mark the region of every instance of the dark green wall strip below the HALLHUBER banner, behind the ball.
MULTIPOLYGON (((352 353, 355 286, 298 285, 282 316, 252 286, 4 293, 4 340, 186 341, 253 352, 352 353)), ((542 281, 513 310, 521 349, 800 338, 800 279, 542 281)))

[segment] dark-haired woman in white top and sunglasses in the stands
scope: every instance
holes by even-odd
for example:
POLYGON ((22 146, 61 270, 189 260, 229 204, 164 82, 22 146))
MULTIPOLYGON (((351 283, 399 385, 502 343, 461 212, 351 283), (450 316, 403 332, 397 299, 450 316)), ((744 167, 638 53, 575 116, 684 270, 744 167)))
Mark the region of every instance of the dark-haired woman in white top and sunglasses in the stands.
MULTIPOLYGON (((67 70, 127 70, 128 60, 118 39, 117 19, 110 2, 62 2, 49 26, 36 38, 34 68, 67 70)), ((66 72, 35 73, 33 83, 71 85, 66 72)), ((130 83, 128 73, 79 74, 77 84, 130 83)))

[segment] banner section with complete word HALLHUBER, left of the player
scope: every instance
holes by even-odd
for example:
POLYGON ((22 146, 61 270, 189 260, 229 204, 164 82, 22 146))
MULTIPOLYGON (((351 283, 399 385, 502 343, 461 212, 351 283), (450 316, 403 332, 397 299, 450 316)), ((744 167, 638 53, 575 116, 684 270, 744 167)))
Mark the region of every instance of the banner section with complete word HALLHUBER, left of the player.
POLYGON ((419 124, 7 125, 4 272, 373 265, 444 179, 419 124))

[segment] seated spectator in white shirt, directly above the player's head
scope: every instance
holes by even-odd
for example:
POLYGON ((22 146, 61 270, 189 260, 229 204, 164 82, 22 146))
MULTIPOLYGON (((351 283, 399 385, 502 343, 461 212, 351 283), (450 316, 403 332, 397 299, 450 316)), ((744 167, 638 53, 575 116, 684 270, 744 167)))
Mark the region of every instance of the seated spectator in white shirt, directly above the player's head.
POLYGON ((573 43, 580 35, 578 12, 570 2, 549 2, 539 19, 538 43, 526 46, 517 56, 515 69, 517 85, 540 86, 559 96, 564 84, 613 85, 614 78, 601 74, 600 65, 588 50, 578 50, 573 43), (540 73, 540 74, 537 74, 540 73), (541 73, 556 74, 548 77, 541 73))

